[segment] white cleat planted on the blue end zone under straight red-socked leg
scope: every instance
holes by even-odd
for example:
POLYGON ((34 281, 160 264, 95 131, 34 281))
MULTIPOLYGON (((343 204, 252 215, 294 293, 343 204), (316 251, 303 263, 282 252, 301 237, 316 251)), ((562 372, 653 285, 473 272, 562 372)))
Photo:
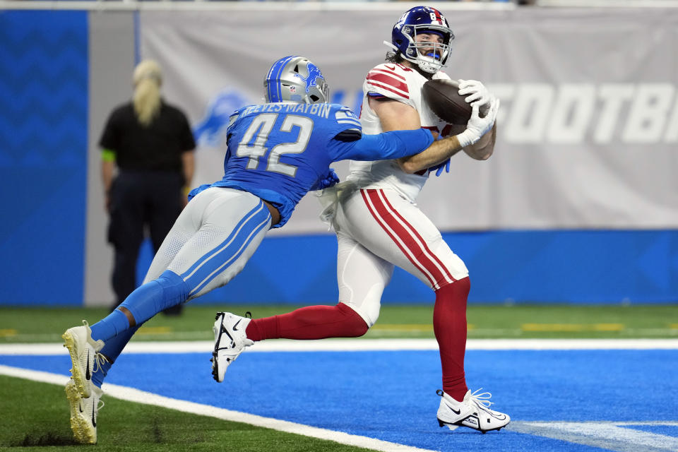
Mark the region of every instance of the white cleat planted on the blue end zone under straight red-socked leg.
POLYGON ((489 405, 492 405, 492 402, 489 398, 492 394, 479 394, 478 391, 474 393, 468 391, 461 402, 454 400, 441 390, 436 391, 441 396, 438 408, 440 427, 447 425, 451 430, 457 427, 469 427, 480 430, 482 433, 506 427, 506 424, 511 422, 511 417, 503 412, 490 410, 489 405))

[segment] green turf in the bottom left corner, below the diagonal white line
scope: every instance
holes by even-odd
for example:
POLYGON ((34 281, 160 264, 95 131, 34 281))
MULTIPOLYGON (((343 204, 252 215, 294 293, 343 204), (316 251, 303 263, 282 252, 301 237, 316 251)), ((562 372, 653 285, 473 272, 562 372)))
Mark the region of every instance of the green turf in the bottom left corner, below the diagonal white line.
POLYGON ((73 442, 64 388, 0 376, 0 451, 365 451, 333 441, 105 397, 96 446, 73 442))

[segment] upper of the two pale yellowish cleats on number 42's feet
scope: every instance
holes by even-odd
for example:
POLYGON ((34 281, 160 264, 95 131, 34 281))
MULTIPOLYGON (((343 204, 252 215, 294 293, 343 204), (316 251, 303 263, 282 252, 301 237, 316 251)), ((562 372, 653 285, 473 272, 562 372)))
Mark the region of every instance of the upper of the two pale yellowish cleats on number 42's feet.
POLYGON ((71 355, 73 383, 81 396, 87 398, 92 393, 92 374, 105 361, 103 355, 99 353, 99 350, 104 347, 104 341, 92 339, 92 330, 84 320, 83 326, 67 329, 61 338, 64 339, 64 347, 69 349, 71 355))

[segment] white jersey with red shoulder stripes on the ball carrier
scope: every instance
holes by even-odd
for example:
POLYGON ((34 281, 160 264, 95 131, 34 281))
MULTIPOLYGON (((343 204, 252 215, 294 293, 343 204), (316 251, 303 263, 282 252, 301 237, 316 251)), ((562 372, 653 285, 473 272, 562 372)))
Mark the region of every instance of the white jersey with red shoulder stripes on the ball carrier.
MULTIPOLYGON (((433 78, 450 77, 444 72, 436 72, 433 78)), ((440 132, 446 123, 441 121, 422 98, 422 86, 427 78, 415 69, 402 64, 379 64, 369 73, 362 85, 362 110, 360 124, 362 133, 369 135, 381 133, 381 122, 374 110, 369 107, 369 95, 380 95, 410 105, 419 113, 423 129, 440 132)), ((350 162, 350 175, 347 177, 360 188, 395 189, 414 202, 429 177, 429 172, 408 174, 398 166, 395 160, 376 160, 374 162, 350 162)))

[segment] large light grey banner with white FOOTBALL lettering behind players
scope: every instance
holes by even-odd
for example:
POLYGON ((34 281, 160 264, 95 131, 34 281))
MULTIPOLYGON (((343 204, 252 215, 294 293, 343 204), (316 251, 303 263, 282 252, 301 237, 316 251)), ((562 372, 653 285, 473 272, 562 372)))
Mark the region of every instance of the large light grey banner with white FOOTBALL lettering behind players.
MULTIPOLYGON (((446 11, 442 11, 446 13, 446 11)), ((140 13, 141 56, 199 133, 194 185, 222 176, 220 126, 262 100, 270 64, 302 54, 359 112, 393 11, 140 13)), ((501 98, 489 160, 453 157, 419 198, 441 230, 678 227, 678 9, 453 11, 446 72, 501 98)), ((336 165, 345 176, 345 163, 336 165)), ((307 196, 282 233, 324 232, 307 196)))

